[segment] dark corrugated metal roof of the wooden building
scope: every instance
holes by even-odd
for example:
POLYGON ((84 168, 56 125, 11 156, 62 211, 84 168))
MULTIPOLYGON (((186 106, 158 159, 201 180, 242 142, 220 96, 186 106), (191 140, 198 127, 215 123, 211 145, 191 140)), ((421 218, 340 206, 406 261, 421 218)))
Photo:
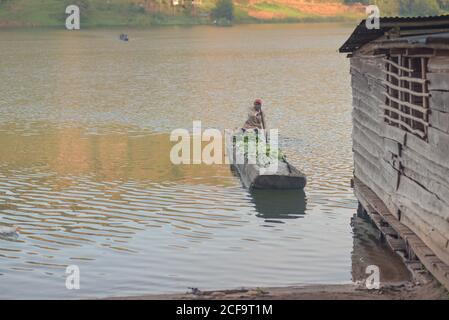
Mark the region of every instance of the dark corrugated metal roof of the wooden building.
POLYGON ((340 52, 350 53, 363 47, 380 37, 385 32, 400 28, 400 30, 428 30, 432 34, 432 29, 447 29, 449 31, 449 15, 433 16, 433 17, 384 17, 380 19, 380 29, 369 30, 366 28, 366 20, 360 22, 351 34, 349 39, 340 48, 340 52))

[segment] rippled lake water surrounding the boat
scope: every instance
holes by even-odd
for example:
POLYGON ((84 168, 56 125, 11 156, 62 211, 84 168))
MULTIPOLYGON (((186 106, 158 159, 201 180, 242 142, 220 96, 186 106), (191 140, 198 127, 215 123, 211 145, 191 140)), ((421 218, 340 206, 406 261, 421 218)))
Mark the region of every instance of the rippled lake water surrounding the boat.
POLYGON ((354 217, 340 25, 0 31, 0 298, 88 298, 406 278, 354 217), (169 134, 265 102, 304 192, 171 164, 169 134), (352 222, 351 222, 352 221, 352 222), (67 290, 77 265, 81 289, 67 290))

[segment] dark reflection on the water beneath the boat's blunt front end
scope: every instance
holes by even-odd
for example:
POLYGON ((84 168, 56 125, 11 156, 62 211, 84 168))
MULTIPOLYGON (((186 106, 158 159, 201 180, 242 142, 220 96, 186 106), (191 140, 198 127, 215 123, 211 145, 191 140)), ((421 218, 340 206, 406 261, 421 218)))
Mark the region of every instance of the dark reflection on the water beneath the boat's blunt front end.
POLYGON ((302 218, 306 213, 304 190, 252 190, 257 217, 282 222, 302 218))

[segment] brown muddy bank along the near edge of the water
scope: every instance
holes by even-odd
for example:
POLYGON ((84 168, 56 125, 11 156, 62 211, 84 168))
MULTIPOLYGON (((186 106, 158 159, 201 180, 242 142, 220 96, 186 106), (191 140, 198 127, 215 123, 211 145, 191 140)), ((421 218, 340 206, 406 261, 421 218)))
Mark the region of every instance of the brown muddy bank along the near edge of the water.
POLYGON ((199 291, 184 294, 115 297, 107 300, 447 300, 448 293, 436 281, 388 284, 379 290, 361 285, 313 285, 285 288, 252 288, 199 291))

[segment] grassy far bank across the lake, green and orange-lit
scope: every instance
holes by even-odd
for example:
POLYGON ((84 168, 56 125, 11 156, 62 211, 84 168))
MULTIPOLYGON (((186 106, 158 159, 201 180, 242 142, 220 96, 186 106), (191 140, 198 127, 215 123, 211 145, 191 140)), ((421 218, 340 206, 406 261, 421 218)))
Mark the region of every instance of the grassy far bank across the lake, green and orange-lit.
POLYGON ((360 4, 379 5, 383 16, 449 12, 449 0, 195 0, 197 5, 192 0, 178 0, 178 3, 173 6, 172 0, 0 0, 0 27, 63 27, 69 4, 80 7, 82 27, 194 25, 220 19, 234 23, 356 21, 364 17, 360 4), (330 14, 329 8, 334 8, 330 14))

